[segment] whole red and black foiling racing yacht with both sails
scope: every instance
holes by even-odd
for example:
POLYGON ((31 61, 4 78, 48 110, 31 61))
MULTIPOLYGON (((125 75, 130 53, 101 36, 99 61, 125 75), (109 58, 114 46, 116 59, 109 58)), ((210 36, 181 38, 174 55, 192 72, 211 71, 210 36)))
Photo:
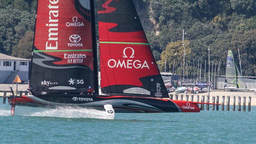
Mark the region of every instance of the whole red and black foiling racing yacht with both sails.
POLYGON ((98 20, 101 95, 94 0, 38 0, 32 95, 8 99, 13 115, 16 105, 105 109, 111 118, 200 112, 200 102, 169 99, 132 0, 98 0, 98 20))

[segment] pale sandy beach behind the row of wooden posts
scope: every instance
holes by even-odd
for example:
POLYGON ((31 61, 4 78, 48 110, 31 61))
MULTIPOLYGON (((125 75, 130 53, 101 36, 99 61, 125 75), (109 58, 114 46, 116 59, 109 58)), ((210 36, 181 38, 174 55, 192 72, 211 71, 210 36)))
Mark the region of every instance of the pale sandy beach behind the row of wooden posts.
MULTIPOLYGON (((169 93, 173 94, 173 99, 175 98, 175 92, 169 93)), ((183 94, 183 100, 186 100, 186 94, 185 93, 178 93, 178 100, 180 100, 180 95, 183 94)), ((199 95, 199 102, 201 102, 202 95, 205 96, 204 102, 206 102, 207 99, 207 92, 205 93, 198 93, 194 94, 193 101, 196 101, 197 95, 199 95)), ((224 92, 223 90, 217 91, 213 90, 213 92, 210 92, 210 103, 212 103, 212 96, 215 96, 215 103, 216 103, 216 96, 219 96, 219 103, 222 102, 222 96, 225 96, 224 104, 227 104, 227 96, 230 96, 230 105, 233 105, 234 96, 236 96, 236 105, 238 105, 238 96, 241 96, 241 105, 243 105, 243 97, 246 97, 245 104, 248 106, 248 100, 249 97, 252 97, 251 100, 251 106, 256 106, 256 95, 254 95, 254 92, 224 92)), ((189 94, 188 100, 191 100, 191 94, 189 94)))

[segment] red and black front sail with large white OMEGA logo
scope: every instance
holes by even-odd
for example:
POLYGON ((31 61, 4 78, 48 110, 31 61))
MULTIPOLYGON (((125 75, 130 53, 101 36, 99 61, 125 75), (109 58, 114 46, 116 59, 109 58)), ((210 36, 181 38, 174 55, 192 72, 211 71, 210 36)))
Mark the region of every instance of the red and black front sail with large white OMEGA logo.
POLYGON ((98 1, 101 92, 169 97, 132 0, 98 1))

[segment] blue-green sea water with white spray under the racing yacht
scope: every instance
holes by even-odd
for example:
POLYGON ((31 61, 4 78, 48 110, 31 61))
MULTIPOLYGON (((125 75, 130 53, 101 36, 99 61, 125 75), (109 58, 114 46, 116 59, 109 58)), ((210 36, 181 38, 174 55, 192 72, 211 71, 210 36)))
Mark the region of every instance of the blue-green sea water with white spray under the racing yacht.
MULTIPOLYGON (((247 111, 116 113, 85 108, 11 107, 0 98, 0 143, 256 143, 256 107, 247 111)), ((226 110, 226 108, 225 108, 226 110)), ((230 107, 232 110, 232 106, 230 107)))

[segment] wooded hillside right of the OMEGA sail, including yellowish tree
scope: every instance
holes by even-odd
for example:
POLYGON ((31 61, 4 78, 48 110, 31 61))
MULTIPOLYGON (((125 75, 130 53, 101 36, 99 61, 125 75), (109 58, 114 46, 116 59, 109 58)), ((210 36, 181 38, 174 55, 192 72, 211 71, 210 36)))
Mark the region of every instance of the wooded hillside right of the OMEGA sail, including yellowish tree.
MULTIPOLYGON (((145 3, 150 5, 151 17, 157 22, 155 31, 146 34, 156 60, 161 60, 161 71, 164 71, 166 60, 166 70, 172 72, 173 52, 176 52, 178 62, 175 62, 175 71, 181 76, 184 49, 177 45, 180 45, 182 30, 185 29, 184 40, 189 40, 186 45, 190 48, 187 55, 188 77, 192 76, 193 67, 190 68, 193 62, 202 62, 203 69, 205 61, 209 65, 208 46, 210 61, 214 61, 214 65, 216 61, 217 65, 220 63, 220 75, 225 75, 228 50, 233 51, 239 65, 237 47, 240 47, 243 76, 255 76, 255 0, 149 0, 145 3), (161 53, 161 59, 157 53, 161 53)), ((207 68, 206 73, 208 71, 207 68)))

